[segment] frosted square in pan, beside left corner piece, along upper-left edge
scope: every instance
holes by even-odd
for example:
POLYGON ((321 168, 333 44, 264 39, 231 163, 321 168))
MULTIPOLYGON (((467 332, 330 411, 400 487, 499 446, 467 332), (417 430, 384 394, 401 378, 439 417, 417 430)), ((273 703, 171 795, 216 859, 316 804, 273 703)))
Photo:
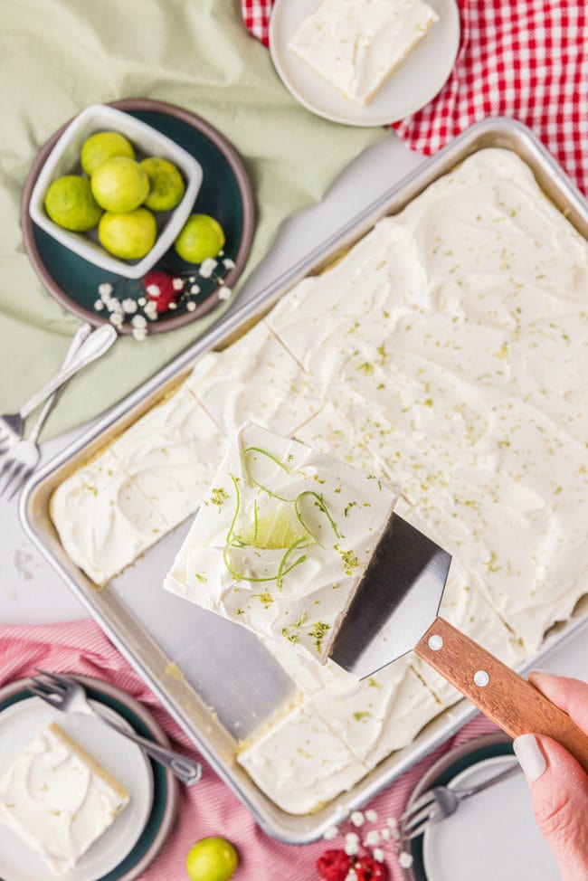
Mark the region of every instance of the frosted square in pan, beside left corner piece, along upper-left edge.
POLYGON ((194 514, 227 445, 185 388, 147 412, 114 441, 110 453, 145 493, 166 529, 194 514))

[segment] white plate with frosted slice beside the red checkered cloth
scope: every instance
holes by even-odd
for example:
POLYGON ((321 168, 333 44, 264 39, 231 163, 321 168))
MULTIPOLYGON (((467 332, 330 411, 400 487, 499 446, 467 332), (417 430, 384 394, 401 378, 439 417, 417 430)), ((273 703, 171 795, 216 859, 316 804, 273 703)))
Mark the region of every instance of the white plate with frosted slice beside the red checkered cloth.
POLYGON ((420 110, 449 79, 460 46, 460 14, 455 0, 428 0, 439 21, 367 107, 346 99, 288 49, 289 39, 320 3, 276 0, 270 19, 270 52, 280 79, 300 104, 318 116, 351 126, 384 126, 420 110))

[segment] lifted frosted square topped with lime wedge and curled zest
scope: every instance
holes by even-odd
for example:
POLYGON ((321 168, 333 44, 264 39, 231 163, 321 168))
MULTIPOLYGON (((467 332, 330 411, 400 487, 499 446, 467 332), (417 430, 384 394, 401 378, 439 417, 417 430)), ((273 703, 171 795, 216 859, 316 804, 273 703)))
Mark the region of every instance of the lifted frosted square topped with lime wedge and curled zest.
POLYGON ((374 475, 248 423, 223 459, 165 586, 327 658, 395 498, 374 475), (288 534, 278 547, 260 546, 274 517, 288 534), (260 539, 253 544, 256 519, 260 539))

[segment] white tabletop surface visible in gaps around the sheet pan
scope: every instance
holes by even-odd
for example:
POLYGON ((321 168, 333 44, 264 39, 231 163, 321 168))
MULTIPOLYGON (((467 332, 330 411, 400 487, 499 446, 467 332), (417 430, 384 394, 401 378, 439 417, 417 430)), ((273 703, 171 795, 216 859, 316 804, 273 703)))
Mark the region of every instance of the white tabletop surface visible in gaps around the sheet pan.
MULTIPOLYGON (((288 270, 318 242, 337 232, 423 161, 426 160, 422 156, 406 150, 394 133, 358 156, 320 204, 284 223, 270 253, 243 287, 238 305, 288 270)), ((81 431, 71 431, 43 444, 42 461, 56 455, 81 431)), ((8 502, 0 497, 0 536, 0 623, 50 623, 86 617, 80 602, 24 534, 16 499, 8 502)), ((546 660, 549 668, 585 678, 585 630, 552 651, 546 660)))

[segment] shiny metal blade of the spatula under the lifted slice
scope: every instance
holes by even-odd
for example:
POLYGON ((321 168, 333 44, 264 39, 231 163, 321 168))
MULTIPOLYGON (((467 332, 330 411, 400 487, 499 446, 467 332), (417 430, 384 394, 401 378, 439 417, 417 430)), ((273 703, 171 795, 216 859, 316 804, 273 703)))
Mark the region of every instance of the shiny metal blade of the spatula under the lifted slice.
POLYGON ((330 657, 358 679, 414 648, 436 618, 451 556, 392 514, 330 657))

